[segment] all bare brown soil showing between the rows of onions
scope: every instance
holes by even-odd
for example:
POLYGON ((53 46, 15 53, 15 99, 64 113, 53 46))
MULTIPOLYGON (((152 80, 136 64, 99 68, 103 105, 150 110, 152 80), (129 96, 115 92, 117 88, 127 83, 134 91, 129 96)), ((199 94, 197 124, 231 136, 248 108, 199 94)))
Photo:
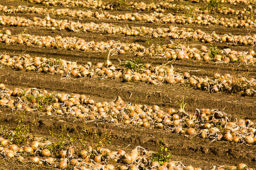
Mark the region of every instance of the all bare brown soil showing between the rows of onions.
MULTIPOLYGON (((157 1, 155 1, 157 2, 157 1)), ((41 4, 31 4, 27 1, 0 1, 3 5, 27 5, 37 6, 44 8, 60 8, 60 6, 43 6, 41 4)), ((193 5, 205 5, 205 4, 193 4, 193 5)), ((234 7, 232 4, 227 6, 234 7)), ((235 6, 236 8, 243 8, 245 5, 235 6)), ((75 8, 79 10, 85 10, 84 8, 75 8)), ((113 14, 132 12, 128 11, 108 11, 113 14)), ((148 11, 152 12, 152 11, 148 11)), ((166 11, 168 13, 170 11, 166 11)), ((174 14, 178 14, 172 12, 174 14)), ((2 13, 1 15, 3 15, 2 13)), ((11 16, 23 16, 25 18, 33 18, 33 16, 45 17, 46 15, 40 14, 28 14, 28 13, 14 13, 6 14, 11 16)), ((215 13, 215 16, 218 16, 215 13)), ((220 15, 219 15, 220 16, 220 15)), ((78 18, 70 17, 55 17, 52 18, 68 18, 73 21, 78 21, 78 18)), ((230 16, 231 17, 231 16, 230 16)), ((130 22, 130 21, 112 21, 112 20, 97 20, 96 18, 85 18, 80 20, 81 23, 93 21, 95 23, 107 22, 114 23, 120 26, 150 26, 152 28, 157 27, 169 27, 172 24, 165 24, 159 26, 156 23, 143 23, 143 22, 130 22)), ((193 26, 193 25, 175 25, 179 27, 200 28, 207 33, 212 33, 213 30, 216 33, 225 34, 232 33, 233 35, 248 35, 256 32, 254 28, 225 28, 222 26, 193 26)), ((68 31, 48 30, 47 28, 22 28, 22 27, 9 27, 0 26, 0 29, 9 29, 12 34, 22 33, 26 29, 26 33, 33 35, 61 35, 63 37, 79 37, 85 40, 95 41, 107 41, 107 40, 119 40, 121 42, 138 42, 144 46, 150 46, 151 44, 166 44, 170 41, 166 39, 152 39, 148 37, 131 37, 123 36, 119 34, 115 35, 99 35, 97 33, 73 33, 68 31), (150 44, 147 43, 150 41, 150 44)), ((173 40, 175 41, 175 40, 173 40)), ((190 46, 202 45, 198 41, 178 40, 178 42, 190 46)), ((216 44, 218 47, 230 47, 234 50, 256 50, 252 46, 229 46, 227 44, 216 44)), ((0 53, 9 54, 21 54, 28 53, 31 56, 41 57, 55 57, 65 60, 72 60, 80 64, 84 64, 87 61, 96 64, 97 62, 104 62, 107 58, 107 53, 100 52, 81 52, 78 50, 57 50, 42 47, 27 47, 26 45, 6 45, 0 43, 0 53)), ((134 60, 133 54, 114 55, 111 61, 115 64, 118 60, 134 60)), ((153 65, 164 64, 168 62, 165 58, 150 58, 143 57, 142 63, 149 62, 153 65)), ((192 60, 181 61, 176 60, 172 62, 177 72, 191 72, 197 76, 213 77, 214 72, 229 73, 233 75, 245 75, 246 77, 256 78, 255 65, 249 64, 226 64, 226 63, 213 63, 213 62, 196 62, 192 60)), ((140 103, 145 105, 158 105, 164 108, 166 111, 168 108, 175 108, 178 110, 180 107, 178 103, 184 101, 186 103, 186 110, 188 112, 195 112, 196 108, 216 108, 219 111, 224 111, 230 115, 234 115, 237 118, 250 119, 256 121, 256 98, 249 96, 239 96, 238 94, 229 94, 220 92, 212 94, 207 91, 200 91, 193 89, 191 86, 183 86, 181 84, 170 85, 152 85, 145 83, 130 83, 123 82, 119 79, 92 79, 92 78, 65 78, 56 74, 44 74, 38 72, 25 72, 16 71, 10 67, 1 67, 0 69, 0 83, 6 84, 9 89, 19 87, 25 89, 28 87, 35 87, 38 89, 47 89, 48 91, 65 92, 68 94, 85 94, 93 98, 95 101, 113 101, 117 96, 125 102, 140 103)), ((20 115, 11 112, 6 108, 0 108, 0 125, 7 125, 9 128, 15 129, 18 125, 17 119, 20 115)), ((102 122, 84 122, 77 118, 72 117, 60 117, 56 115, 42 115, 41 113, 27 114, 23 118, 23 122, 31 127, 31 133, 36 136, 48 136, 57 140, 57 136, 60 134, 68 133, 70 136, 75 137, 77 135, 76 130, 81 131, 86 125, 90 130, 99 130, 101 135, 104 132, 112 129, 113 138, 111 144, 107 144, 108 148, 127 150, 133 149, 136 146, 142 146, 145 149, 152 150, 154 152, 159 151, 161 145, 166 146, 170 153, 171 159, 181 161, 183 164, 192 165, 194 167, 201 167, 202 169, 211 169, 213 166, 223 165, 236 165, 239 163, 245 163, 250 167, 256 168, 256 156, 255 145, 235 144, 232 142, 224 141, 210 141, 203 140, 198 137, 186 137, 183 135, 176 135, 169 130, 157 130, 137 128, 129 125, 119 125, 102 122), (65 129, 65 130, 64 130, 65 129), (55 137, 54 137, 55 136, 55 137)), ((87 142, 90 142, 88 139, 87 142)), ((79 142, 77 144, 79 145, 79 142)), ((0 156, 0 169, 53 169, 50 166, 36 166, 34 164, 21 164, 16 159, 9 160, 0 156)))

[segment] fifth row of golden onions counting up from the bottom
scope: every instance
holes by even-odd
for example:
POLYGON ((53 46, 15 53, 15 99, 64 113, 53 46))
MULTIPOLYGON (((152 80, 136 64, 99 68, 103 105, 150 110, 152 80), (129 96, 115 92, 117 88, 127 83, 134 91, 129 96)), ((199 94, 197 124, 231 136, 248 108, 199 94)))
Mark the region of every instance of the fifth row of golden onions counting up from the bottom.
POLYGON ((121 33, 127 36, 145 36, 153 38, 172 38, 172 39, 194 39, 201 42, 226 42, 230 45, 255 45, 256 34, 254 35, 218 35, 217 33, 205 33, 200 29, 178 28, 170 26, 169 28, 149 28, 145 26, 125 28, 122 26, 112 26, 110 23, 79 23, 68 20, 55 20, 46 16, 46 18, 33 17, 33 21, 18 16, 0 16, 0 24, 4 26, 42 26, 52 30, 71 30, 74 32, 95 32, 95 33, 121 33))

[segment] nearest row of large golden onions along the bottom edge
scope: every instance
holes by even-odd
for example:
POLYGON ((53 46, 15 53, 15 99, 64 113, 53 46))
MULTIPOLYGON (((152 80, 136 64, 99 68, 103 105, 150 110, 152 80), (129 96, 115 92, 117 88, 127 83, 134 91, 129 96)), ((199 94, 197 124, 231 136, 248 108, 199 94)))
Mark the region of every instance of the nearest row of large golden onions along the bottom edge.
MULTIPOLYGON (((14 140, 14 139, 12 139, 14 140)), ((0 137, 0 155, 5 158, 17 157, 23 164, 31 162, 33 164, 53 166, 58 169, 73 167, 73 170, 105 169, 105 170, 135 170, 135 169, 178 169, 178 170, 201 170, 193 166, 185 166, 182 162, 168 161, 163 164, 154 161, 155 152, 147 151, 143 147, 135 147, 131 152, 124 149, 111 151, 105 147, 88 147, 88 149, 78 150, 75 147, 58 149, 55 153, 51 152, 50 146, 55 145, 49 140, 42 140, 40 137, 33 137, 31 144, 18 146, 12 144, 13 141, 0 137), (22 156, 21 156, 22 155, 22 156), (115 166, 112 162, 115 162, 115 166)), ((227 166, 229 169, 252 170, 246 164, 237 166, 227 166)), ((213 169, 216 169, 214 167, 213 169)), ((218 170, 224 170, 221 166, 218 170)))

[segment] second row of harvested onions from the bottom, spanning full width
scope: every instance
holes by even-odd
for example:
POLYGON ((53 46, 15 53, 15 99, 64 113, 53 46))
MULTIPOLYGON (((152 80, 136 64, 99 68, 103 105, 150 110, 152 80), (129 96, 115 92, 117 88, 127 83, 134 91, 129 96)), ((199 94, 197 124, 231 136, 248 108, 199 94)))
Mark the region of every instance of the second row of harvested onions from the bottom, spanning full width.
POLYGON ((256 126, 252 120, 238 119, 217 109, 196 109, 188 113, 159 106, 142 106, 125 103, 117 96, 114 101, 95 102, 84 94, 57 94, 35 88, 7 89, 0 84, 0 106, 33 113, 75 116, 85 121, 102 121, 115 125, 132 125, 142 128, 160 128, 177 135, 201 137, 209 140, 256 144, 256 126))

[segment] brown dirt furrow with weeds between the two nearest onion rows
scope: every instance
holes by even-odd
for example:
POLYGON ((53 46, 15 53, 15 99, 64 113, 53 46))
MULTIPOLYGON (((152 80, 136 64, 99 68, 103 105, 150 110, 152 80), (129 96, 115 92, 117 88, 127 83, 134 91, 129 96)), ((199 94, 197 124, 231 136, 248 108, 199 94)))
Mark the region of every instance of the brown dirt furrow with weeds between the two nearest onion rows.
MULTIPOLYGON (((18 123, 16 120, 17 115, 6 109, 3 111, 8 116, 0 115, 2 125, 16 127, 18 123)), ((98 130, 102 135, 105 130, 111 129, 113 134, 111 145, 106 145, 105 147, 113 150, 125 148, 125 150, 129 151, 134 147, 142 146, 154 152, 159 152, 160 147, 167 147, 171 154, 171 160, 180 161, 193 167, 201 167, 202 169, 210 169, 213 166, 240 164, 240 162, 244 162, 248 166, 254 166, 256 162, 256 157, 252 154, 256 146, 230 142, 212 142, 198 137, 185 137, 176 135, 170 130, 146 130, 146 128, 122 124, 113 125, 110 123, 85 123, 76 118, 59 115, 42 116, 40 113, 23 116, 23 123, 28 125, 31 128, 31 132, 37 136, 53 134, 58 136, 61 133, 67 133, 71 137, 75 137, 77 135, 76 130, 82 132, 85 127, 91 131, 98 130), (240 152, 240 150, 244 152, 240 152)), ((85 137, 82 140, 90 143, 90 138, 85 137)), ((19 166, 16 167, 18 168, 19 166)), ((47 166, 43 167, 43 169, 45 168, 47 166)))

